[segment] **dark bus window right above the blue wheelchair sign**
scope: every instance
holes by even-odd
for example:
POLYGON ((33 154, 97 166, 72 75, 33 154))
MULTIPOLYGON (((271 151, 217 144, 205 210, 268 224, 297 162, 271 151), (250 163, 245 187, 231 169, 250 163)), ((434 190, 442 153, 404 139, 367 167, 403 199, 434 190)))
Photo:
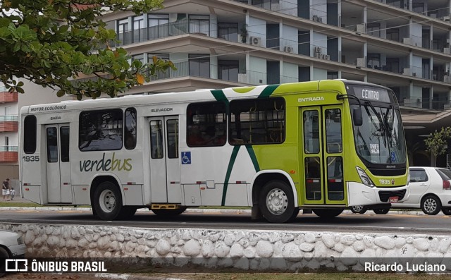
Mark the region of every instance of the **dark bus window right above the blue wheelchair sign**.
POLYGON ((211 147, 226 144, 226 104, 193 103, 187 107, 187 145, 211 147))

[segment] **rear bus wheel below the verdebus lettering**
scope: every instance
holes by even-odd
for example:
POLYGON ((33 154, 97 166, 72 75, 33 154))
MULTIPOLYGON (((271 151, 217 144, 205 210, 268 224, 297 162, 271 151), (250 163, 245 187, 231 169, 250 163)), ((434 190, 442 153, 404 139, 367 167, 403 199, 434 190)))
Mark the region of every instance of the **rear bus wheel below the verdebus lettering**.
POLYGON ((110 181, 97 185, 92 207, 97 216, 104 221, 118 219, 123 206, 121 193, 116 185, 110 181))

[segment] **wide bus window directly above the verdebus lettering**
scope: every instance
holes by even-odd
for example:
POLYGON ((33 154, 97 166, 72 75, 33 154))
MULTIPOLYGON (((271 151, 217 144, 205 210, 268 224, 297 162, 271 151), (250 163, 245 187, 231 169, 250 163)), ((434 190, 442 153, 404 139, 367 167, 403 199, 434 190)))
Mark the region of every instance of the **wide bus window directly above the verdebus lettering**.
POLYGON ((120 150, 123 142, 121 109, 83 111, 80 114, 80 151, 120 150))

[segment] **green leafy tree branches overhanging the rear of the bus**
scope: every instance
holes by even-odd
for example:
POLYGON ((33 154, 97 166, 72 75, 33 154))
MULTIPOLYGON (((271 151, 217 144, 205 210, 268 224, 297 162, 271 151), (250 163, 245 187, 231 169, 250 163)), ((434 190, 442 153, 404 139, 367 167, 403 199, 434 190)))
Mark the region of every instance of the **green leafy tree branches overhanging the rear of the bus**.
POLYGON ((147 65, 129 63, 122 48, 113 48, 114 30, 101 20, 103 13, 146 13, 161 8, 163 0, 2 0, 0 2, 0 80, 10 91, 23 93, 25 78, 68 94, 115 97, 149 81, 149 75, 173 68, 171 61, 154 59, 147 65), (80 74, 97 79, 74 81, 80 74))

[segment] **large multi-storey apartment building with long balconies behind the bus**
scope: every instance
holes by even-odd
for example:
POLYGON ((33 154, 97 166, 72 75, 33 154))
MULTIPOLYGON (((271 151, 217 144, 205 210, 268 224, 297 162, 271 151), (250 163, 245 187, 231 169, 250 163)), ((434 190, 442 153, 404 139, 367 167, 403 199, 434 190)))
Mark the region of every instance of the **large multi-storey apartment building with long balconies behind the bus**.
POLYGON ((334 78, 385 85, 402 105, 409 146, 422 147, 409 151, 411 164, 429 157, 418 136, 451 123, 450 0, 163 5, 140 16, 104 16, 133 58, 147 62, 158 56, 178 68, 128 94, 334 78))

